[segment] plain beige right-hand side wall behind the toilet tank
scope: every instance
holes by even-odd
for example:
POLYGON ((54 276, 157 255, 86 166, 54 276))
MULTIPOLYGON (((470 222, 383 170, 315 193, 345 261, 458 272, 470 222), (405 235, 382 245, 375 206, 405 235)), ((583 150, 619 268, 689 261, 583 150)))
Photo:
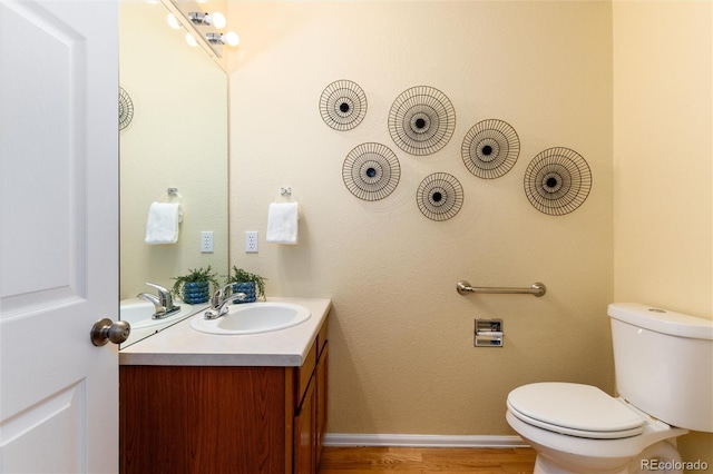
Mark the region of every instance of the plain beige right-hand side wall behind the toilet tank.
MULTIPOLYGON (((614 3, 614 297, 713 317, 713 3, 614 3)), ((681 440, 713 465, 713 435, 681 440)))

